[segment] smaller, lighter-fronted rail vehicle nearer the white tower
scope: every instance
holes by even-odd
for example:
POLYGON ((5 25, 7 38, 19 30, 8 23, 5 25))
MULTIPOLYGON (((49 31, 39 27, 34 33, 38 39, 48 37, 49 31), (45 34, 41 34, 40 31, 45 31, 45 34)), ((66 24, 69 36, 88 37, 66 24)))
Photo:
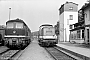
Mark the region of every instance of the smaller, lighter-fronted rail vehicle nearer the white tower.
POLYGON ((57 37, 53 25, 43 24, 39 27, 38 41, 41 46, 54 46, 57 43, 57 37))

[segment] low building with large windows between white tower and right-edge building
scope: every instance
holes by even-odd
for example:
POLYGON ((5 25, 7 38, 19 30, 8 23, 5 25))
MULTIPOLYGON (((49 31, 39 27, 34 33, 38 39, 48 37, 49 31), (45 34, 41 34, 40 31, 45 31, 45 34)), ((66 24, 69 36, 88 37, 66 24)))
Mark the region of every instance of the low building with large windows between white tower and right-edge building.
POLYGON ((70 42, 71 43, 84 43, 84 21, 70 25, 70 42))

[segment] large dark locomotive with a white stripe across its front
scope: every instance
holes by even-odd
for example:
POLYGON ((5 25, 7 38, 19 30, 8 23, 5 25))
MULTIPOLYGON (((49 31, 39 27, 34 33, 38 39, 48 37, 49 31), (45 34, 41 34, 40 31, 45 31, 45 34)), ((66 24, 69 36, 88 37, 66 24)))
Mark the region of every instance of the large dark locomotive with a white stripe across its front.
POLYGON ((21 19, 9 20, 6 22, 5 46, 13 49, 23 49, 31 42, 31 30, 21 19))

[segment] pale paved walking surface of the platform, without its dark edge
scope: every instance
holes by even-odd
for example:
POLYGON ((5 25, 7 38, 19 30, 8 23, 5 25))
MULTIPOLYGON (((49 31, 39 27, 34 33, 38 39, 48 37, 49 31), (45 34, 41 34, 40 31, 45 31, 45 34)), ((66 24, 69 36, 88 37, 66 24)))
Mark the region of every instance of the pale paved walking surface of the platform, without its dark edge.
POLYGON ((79 47, 79 46, 75 46, 75 45, 72 45, 72 44, 57 44, 57 46, 59 47, 63 47, 67 50, 70 50, 70 51, 73 51, 75 53, 78 53, 78 54, 81 54, 81 55, 84 55, 86 57, 90 57, 90 49, 89 48, 84 48, 84 47, 79 47))

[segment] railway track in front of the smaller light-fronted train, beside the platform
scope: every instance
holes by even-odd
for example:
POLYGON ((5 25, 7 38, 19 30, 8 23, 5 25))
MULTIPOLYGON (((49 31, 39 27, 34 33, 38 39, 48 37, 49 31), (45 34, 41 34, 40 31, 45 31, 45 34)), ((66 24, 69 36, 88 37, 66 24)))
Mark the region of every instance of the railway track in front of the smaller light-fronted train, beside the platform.
POLYGON ((79 57, 76 57, 70 53, 61 50, 58 47, 48 47, 45 49, 55 60, 83 60, 80 59, 79 57))

